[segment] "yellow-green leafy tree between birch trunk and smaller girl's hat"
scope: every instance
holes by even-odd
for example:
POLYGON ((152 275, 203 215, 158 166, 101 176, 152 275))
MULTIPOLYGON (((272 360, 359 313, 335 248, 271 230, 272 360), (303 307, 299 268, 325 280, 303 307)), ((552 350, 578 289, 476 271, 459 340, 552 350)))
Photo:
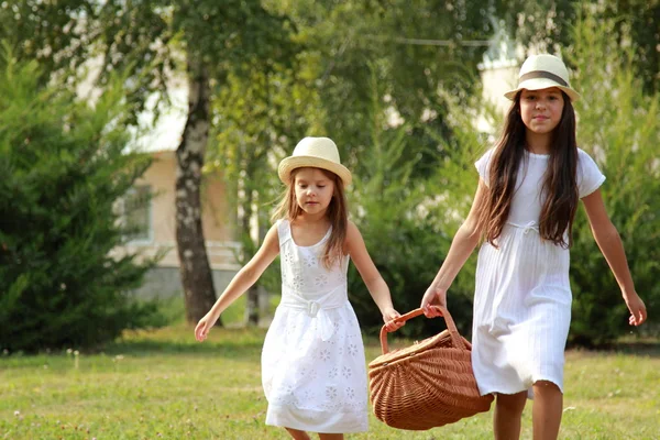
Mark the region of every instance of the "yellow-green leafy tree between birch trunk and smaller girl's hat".
MULTIPOLYGON (((235 208, 241 264, 256 253, 271 224, 268 208, 283 189, 276 165, 314 122, 320 107, 317 101, 308 81, 284 65, 271 72, 253 65, 246 75, 231 74, 213 100, 218 133, 210 163, 222 169, 235 208)), ((267 304, 266 289, 279 290, 279 278, 272 274, 268 271, 248 290, 249 324, 258 323, 260 308, 267 304)))

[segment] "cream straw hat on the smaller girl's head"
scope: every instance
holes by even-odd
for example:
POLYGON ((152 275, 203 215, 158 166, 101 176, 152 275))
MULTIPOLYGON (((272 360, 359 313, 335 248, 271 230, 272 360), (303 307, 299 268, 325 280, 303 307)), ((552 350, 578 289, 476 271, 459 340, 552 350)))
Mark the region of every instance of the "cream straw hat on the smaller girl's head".
POLYGON ((329 138, 305 138, 294 148, 294 154, 279 163, 279 179, 289 184, 292 172, 296 168, 315 167, 337 174, 344 186, 352 180, 351 172, 339 161, 337 145, 329 138))

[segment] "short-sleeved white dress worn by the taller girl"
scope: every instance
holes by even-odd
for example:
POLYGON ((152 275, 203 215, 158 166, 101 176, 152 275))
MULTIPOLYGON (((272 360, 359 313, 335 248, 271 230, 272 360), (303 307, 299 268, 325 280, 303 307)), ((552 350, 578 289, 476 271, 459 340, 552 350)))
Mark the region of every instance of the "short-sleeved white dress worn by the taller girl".
MULTIPOLYGON (((493 150, 475 166, 488 185, 493 150)), ((579 148, 578 187, 583 198, 605 180, 579 148)), ((497 240, 479 252, 472 327, 472 365, 482 395, 515 394, 549 381, 563 393, 564 349, 571 322, 569 250, 541 240, 541 186, 549 155, 526 153, 509 218, 497 240)))

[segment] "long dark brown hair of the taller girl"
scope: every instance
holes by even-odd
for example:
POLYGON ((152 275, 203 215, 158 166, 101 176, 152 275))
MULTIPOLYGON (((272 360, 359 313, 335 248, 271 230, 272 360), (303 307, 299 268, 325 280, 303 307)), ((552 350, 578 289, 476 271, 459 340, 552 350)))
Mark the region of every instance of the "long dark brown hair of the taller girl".
MULTIPOLYGON (((502 138, 491 157, 488 191, 480 208, 477 230, 483 240, 496 246, 495 241, 508 219, 520 164, 525 157, 526 127, 520 118, 520 94, 507 114, 502 138)), ((539 234, 562 248, 573 244, 573 219, 578 210, 578 143, 575 142, 575 112, 571 99, 563 91, 561 120, 552 131, 552 148, 542 186, 543 207, 539 219, 539 234), (568 232, 568 242, 565 233, 568 232)))

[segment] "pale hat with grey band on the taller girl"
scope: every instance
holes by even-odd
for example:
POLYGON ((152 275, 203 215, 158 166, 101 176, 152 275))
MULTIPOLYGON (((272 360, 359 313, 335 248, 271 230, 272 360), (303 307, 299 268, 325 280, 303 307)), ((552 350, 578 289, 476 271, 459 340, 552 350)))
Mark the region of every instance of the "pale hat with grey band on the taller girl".
POLYGON ((560 58, 553 55, 532 55, 520 67, 518 88, 504 96, 514 100, 522 89, 541 90, 550 87, 564 91, 573 102, 580 99, 580 94, 569 84, 569 70, 560 58))

